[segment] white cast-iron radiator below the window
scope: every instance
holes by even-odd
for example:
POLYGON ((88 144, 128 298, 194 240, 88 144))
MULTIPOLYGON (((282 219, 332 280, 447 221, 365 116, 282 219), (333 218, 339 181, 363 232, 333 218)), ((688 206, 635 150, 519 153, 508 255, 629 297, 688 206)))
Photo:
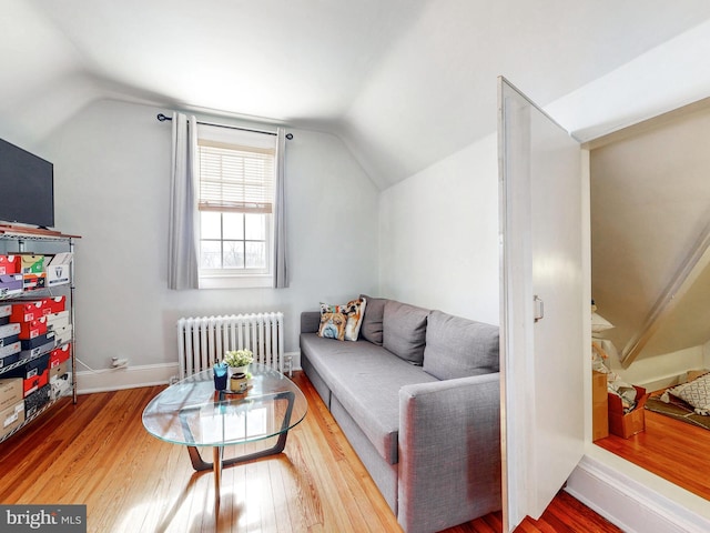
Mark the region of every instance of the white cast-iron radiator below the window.
MULTIPOLYGON (((212 368, 230 350, 251 350, 254 362, 284 371, 283 313, 184 318, 178 321, 180 379, 212 368)), ((291 364, 288 373, 291 374, 291 364)))

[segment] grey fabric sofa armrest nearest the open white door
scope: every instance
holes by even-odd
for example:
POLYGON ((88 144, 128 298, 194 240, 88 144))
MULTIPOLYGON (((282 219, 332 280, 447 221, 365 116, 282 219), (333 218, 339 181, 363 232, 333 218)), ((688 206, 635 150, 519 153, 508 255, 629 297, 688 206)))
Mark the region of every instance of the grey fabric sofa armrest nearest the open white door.
POLYGON ((501 507, 500 374, 399 390, 397 520, 434 532, 501 507))

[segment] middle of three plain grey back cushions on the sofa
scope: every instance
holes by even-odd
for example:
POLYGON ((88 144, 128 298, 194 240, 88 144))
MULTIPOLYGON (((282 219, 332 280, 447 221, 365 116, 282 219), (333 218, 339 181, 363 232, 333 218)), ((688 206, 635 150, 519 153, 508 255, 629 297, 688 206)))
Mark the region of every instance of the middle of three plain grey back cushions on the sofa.
POLYGON ((413 364, 420 365, 426 344, 429 311, 408 303, 387 300, 383 315, 383 346, 413 364))

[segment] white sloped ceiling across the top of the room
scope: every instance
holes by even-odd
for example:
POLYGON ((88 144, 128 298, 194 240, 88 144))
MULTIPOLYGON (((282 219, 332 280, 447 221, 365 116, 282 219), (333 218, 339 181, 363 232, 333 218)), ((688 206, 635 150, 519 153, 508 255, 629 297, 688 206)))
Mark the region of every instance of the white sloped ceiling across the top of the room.
POLYGON ((0 0, 0 135, 99 98, 341 135, 381 188, 710 17, 706 0, 0 0))

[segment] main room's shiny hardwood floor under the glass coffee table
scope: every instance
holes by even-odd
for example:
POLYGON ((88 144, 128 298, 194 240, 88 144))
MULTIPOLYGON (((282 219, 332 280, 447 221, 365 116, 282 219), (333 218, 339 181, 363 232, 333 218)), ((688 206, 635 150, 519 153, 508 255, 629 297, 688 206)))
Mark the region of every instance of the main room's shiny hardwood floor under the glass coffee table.
MULTIPOLYGON (((184 446, 149 435, 145 404, 162 388, 59 402, 0 444, 0 502, 85 504, 88 531, 397 532, 395 516, 307 379, 294 381, 308 414, 283 454, 225 469, 215 521, 212 474, 192 470, 184 446)), ((499 532, 494 513, 446 533, 499 532)), ((520 532, 620 531, 561 492, 520 532)))

